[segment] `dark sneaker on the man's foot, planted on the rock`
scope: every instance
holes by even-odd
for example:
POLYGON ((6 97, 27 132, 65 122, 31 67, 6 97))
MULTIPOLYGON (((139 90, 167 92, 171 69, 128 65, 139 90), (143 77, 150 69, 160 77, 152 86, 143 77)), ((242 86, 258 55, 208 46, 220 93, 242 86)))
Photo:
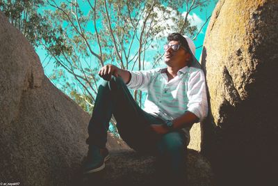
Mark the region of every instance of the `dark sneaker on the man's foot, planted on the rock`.
POLYGON ((98 146, 89 146, 88 155, 83 166, 83 173, 95 173, 101 171, 105 167, 105 162, 110 156, 107 148, 99 148, 98 146))

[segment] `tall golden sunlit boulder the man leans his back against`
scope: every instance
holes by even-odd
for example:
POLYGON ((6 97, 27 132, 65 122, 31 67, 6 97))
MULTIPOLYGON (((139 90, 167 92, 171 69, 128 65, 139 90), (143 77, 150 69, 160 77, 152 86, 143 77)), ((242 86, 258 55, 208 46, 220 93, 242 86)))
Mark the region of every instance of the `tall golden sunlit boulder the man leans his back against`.
POLYGON ((202 65, 211 105, 202 150, 219 185, 271 185, 277 173, 278 1, 224 0, 202 65))

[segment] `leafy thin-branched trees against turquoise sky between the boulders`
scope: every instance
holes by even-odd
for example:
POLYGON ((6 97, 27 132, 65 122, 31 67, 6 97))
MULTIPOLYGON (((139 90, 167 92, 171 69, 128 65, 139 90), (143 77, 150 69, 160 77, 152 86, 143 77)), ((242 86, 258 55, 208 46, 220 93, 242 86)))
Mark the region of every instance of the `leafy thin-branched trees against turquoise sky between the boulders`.
MULTIPOLYGON (((0 2, 10 22, 33 45, 44 47, 56 66, 63 68, 63 72, 54 72, 52 81, 60 84, 86 111, 91 111, 94 105, 101 66, 113 63, 126 70, 145 70, 147 61, 153 61, 147 68, 156 67, 163 57, 161 43, 165 42, 166 32, 186 33, 196 38, 200 30, 190 24, 188 15, 195 8, 202 10, 211 3, 208 0, 0 2), (43 16, 37 12, 38 7, 43 16), (22 29, 25 28, 22 23, 26 30, 22 29), (74 77, 74 82, 65 78, 65 72, 74 77)), ((142 104, 142 93, 133 94, 142 104)), ((114 119, 112 123, 115 124, 114 119)))

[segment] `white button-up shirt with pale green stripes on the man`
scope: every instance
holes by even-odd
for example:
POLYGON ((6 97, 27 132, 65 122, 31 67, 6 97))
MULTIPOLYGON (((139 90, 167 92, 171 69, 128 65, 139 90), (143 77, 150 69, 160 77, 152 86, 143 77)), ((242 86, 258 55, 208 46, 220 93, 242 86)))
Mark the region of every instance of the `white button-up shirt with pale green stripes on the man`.
MULTIPOLYGON (((147 91, 145 108, 149 114, 172 120, 190 111, 199 121, 208 113, 206 80, 199 68, 181 68, 168 82, 167 68, 131 72, 128 88, 147 91)), ((189 138, 190 128, 183 129, 189 138)))

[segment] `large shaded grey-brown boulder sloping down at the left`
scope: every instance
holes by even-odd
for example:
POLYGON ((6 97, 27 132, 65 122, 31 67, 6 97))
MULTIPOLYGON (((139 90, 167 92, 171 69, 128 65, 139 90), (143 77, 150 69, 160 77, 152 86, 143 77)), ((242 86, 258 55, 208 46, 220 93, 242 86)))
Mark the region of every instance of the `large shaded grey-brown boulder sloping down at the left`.
MULTIPOLYGON (((90 116, 44 76, 33 47, 0 12, 0 182, 70 185, 90 116)), ((109 135, 108 148, 120 149, 109 135)))

